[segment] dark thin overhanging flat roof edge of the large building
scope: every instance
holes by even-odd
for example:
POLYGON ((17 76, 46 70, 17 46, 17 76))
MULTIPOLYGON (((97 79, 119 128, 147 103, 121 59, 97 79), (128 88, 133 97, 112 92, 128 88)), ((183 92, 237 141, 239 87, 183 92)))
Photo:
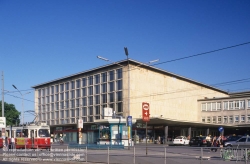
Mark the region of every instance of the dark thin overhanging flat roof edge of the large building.
MULTIPOLYGON (((209 88, 209 89, 212 89, 212 90, 215 90, 215 91, 218 91, 218 92, 222 92, 224 94, 228 94, 227 91, 224 91, 224 90, 212 87, 210 85, 203 84, 201 82, 197 82, 195 80, 191 80, 191 79, 188 79, 188 78, 180 76, 180 75, 176 75, 174 73, 171 73, 171 72, 168 72, 168 71, 156 68, 154 66, 151 66, 151 65, 148 65, 148 64, 145 64, 145 63, 142 63, 142 62, 138 62, 136 60, 132 60, 132 59, 128 59, 128 60, 129 60, 130 64, 135 64, 135 65, 138 65, 138 66, 143 67, 143 68, 150 69, 150 70, 155 71, 155 72, 159 72, 159 73, 162 73, 162 74, 165 74, 165 75, 168 75, 168 76, 172 76, 172 77, 184 80, 184 81, 188 81, 190 83, 193 83, 193 84, 196 84, 196 85, 200 85, 200 86, 203 86, 205 88, 209 88)), ((55 80, 51 80, 51 81, 48 81, 48 82, 45 82, 45 83, 34 85, 34 86, 32 86, 32 88, 36 89, 36 88, 42 87, 44 85, 48 85, 50 83, 54 83, 54 82, 57 82, 57 81, 60 81, 60 80, 65 80, 65 79, 73 78, 73 77, 76 77, 76 76, 79 76, 79 75, 82 75, 82 74, 87 74, 87 73, 90 73, 90 72, 93 72, 93 71, 98 71, 100 69, 107 68, 107 67, 113 67, 113 66, 119 67, 119 65, 126 66, 127 63, 128 63, 128 60, 127 59, 126 60, 121 60, 121 61, 118 61, 118 62, 110 63, 110 64, 107 64, 107 65, 103 65, 101 67, 96 67, 96 68, 93 68, 93 69, 90 69, 90 70, 86 70, 86 71, 82 71, 82 72, 79 72, 79 73, 76 73, 76 74, 71 74, 69 76, 65 76, 65 77, 58 78, 58 79, 55 79, 55 80)))

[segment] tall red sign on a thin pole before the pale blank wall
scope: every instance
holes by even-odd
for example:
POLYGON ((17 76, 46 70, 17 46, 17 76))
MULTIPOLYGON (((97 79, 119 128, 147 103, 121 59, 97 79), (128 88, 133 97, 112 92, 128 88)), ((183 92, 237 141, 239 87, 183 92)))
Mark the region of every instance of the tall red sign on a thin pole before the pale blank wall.
POLYGON ((146 155, 148 155, 148 122, 150 121, 149 103, 142 103, 142 120, 146 122, 146 155))

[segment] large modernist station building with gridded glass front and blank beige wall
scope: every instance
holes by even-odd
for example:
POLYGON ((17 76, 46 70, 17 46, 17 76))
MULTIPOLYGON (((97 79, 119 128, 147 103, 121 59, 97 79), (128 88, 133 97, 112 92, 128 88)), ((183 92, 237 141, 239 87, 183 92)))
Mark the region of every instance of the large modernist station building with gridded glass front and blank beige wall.
MULTIPOLYGON (((150 137, 205 135, 209 128, 217 132, 219 120, 224 121, 225 116, 228 121, 231 116, 234 120, 238 118, 239 122, 243 119, 243 114, 223 114, 222 104, 231 98, 227 92, 131 59, 33 88, 35 102, 38 102, 35 104, 37 121, 46 122, 54 135, 63 134, 67 141, 77 140, 76 123, 78 119, 83 119, 83 141, 95 142, 100 129, 96 122, 102 122, 105 107, 112 108, 117 115, 125 118, 129 115, 136 118, 133 134, 143 137, 142 102, 150 104, 150 137), (220 99, 215 101, 218 97, 220 99), (214 119, 218 124, 213 124, 214 119)), ((238 102, 239 109, 241 103, 238 102)), ((228 101, 228 109, 230 104, 228 101)), ((244 119, 248 118, 246 111, 244 106, 244 119)))

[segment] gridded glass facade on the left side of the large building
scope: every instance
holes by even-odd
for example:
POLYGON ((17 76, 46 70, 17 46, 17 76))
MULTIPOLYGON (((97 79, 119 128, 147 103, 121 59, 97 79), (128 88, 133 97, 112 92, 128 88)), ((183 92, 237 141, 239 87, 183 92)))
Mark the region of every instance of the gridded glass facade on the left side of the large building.
POLYGON ((39 88, 39 121, 49 125, 75 123, 81 118, 93 122, 102 118, 103 108, 123 112, 123 70, 113 69, 69 79, 39 88))

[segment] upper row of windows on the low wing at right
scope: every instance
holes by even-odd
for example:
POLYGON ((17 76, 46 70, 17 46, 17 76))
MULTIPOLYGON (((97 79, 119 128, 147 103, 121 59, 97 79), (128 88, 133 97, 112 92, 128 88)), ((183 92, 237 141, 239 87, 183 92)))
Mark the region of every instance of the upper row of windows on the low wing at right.
MULTIPOLYGON (((250 100, 247 100, 247 107, 250 108, 250 100)), ((245 100, 207 102, 201 104, 202 111, 237 110, 245 109, 245 100), (223 108, 221 104, 223 103, 223 108)))

